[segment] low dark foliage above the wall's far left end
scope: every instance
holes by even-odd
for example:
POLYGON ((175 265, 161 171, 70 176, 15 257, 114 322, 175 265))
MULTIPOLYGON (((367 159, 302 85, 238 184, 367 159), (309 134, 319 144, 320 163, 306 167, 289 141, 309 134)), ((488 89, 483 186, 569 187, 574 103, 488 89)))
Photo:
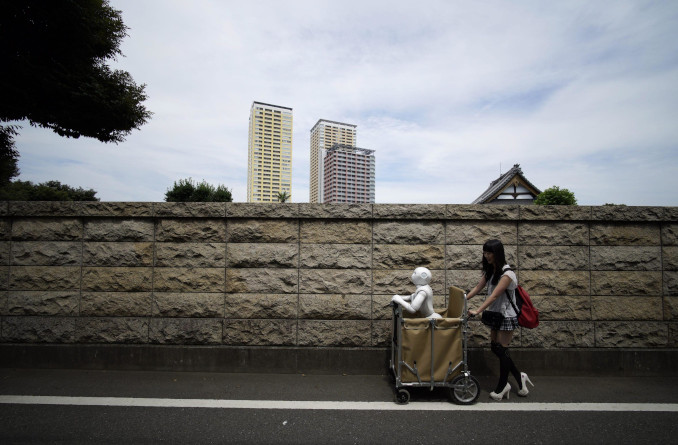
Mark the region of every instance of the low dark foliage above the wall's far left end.
POLYGON ((33 184, 14 181, 0 188, 0 201, 99 201, 96 191, 74 188, 59 181, 33 184))

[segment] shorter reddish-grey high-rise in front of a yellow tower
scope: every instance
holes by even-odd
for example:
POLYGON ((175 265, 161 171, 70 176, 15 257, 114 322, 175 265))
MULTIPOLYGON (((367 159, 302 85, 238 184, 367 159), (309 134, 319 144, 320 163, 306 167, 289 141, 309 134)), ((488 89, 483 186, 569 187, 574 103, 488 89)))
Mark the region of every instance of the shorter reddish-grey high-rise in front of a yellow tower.
POLYGON ((334 144, 322 150, 323 201, 374 203, 374 150, 334 144))

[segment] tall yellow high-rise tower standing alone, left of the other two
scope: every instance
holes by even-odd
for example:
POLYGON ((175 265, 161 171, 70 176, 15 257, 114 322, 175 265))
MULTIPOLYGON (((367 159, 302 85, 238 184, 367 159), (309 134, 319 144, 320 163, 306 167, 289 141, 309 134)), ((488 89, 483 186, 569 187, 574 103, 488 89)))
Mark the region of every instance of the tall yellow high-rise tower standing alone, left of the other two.
POLYGON ((277 202, 292 194, 292 109, 252 102, 247 159, 247 202, 277 202))

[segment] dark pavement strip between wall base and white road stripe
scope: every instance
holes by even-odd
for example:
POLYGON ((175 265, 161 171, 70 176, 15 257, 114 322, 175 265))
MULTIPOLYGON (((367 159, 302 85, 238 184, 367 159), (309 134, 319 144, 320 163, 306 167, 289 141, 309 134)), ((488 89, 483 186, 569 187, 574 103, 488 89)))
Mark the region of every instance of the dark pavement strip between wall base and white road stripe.
MULTIPOLYGON (((496 377, 477 376, 488 401, 496 377)), ((530 375, 526 398, 510 403, 677 403, 672 377, 558 377, 530 375)), ((509 380, 513 385, 513 380, 509 380)), ((410 403, 446 402, 445 389, 412 388, 410 403)), ((389 375, 222 374, 0 368, 0 395, 167 399, 369 401, 393 400, 389 375)), ((503 403, 506 403, 504 401, 503 403)))

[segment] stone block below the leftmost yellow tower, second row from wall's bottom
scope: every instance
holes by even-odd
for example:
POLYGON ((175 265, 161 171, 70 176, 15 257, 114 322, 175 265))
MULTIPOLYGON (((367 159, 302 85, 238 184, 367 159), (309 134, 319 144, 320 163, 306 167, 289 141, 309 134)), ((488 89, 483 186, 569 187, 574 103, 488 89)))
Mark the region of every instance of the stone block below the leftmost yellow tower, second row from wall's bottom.
POLYGON ((297 318, 297 294, 226 294, 226 318, 297 318))

